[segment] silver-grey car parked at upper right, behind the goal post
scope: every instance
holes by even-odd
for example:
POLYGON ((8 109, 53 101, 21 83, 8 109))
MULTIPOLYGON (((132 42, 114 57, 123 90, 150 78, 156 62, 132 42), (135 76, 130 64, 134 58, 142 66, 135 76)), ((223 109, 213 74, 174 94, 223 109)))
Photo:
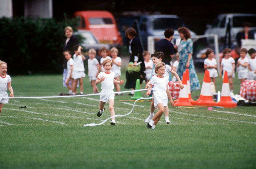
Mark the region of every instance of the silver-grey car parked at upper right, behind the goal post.
MULTIPOLYGON (((224 43, 226 30, 230 26, 230 38, 231 43, 235 42, 236 34, 243 29, 243 24, 250 22, 252 24, 251 29, 256 28, 256 14, 250 13, 222 13, 212 22, 207 24, 207 29, 204 34, 217 34, 219 43, 224 43)), ((228 35, 228 34, 227 34, 228 35)), ((228 37, 227 37, 228 38, 228 37)), ((209 45, 213 44, 213 38, 207 38, 209 45)))

